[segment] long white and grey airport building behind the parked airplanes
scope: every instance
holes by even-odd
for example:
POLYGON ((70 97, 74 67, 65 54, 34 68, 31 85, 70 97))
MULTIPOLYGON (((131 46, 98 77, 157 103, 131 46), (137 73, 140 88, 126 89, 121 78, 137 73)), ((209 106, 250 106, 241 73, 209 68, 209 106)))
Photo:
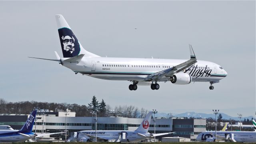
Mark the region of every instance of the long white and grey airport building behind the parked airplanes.
MULTIPOLYGON (((14 129, 20 129, 28 116, 24 115, 1 115, 0 125, 10 125, 14 129)), ((124 117, 98 117, 97 130, 136 130, 143 118, 124 117)), ((33 126, 33 131, 41 132, 64 132, 68 131, 68 137, 72 132, 81 130, 95 130, 95 117, 75 117, 75 112, 41 112, 37 113, 37 121, 33 126), (67 114, 67 115, 66 115, 67 114), (65 126, 65 124, 67 124, 65 126)), ((156 133, 176 132, 169 136, 180 136, 196 139, 200 132, 206 131, 205 119, 174 119, 156 118, 156 133)), ((154 133, 154 121, 150 121, 150 133, 154 133)), ((166 137, 168 135, 162 136, 166 137)), ((65 139, 64 134, 52 135, 65 139)), ((157 137, 161 138, 161 137, 157 137)))

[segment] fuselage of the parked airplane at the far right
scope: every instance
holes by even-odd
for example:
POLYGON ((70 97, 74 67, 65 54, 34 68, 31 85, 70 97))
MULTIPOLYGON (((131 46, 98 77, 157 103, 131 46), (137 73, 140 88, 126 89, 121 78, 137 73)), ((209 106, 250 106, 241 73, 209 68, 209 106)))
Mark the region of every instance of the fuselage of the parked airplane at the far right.
MULTIPOLYGON (((256 142, 256 131, 217 131, 217 140, 224 140, 226 138, 225 134, 234 134, 234 140, 236 142, 256 142)), ((214 137, 214 135, 215 131, 202 132, 197 136, 196 140, 204 142, 206 138, 214 137)))

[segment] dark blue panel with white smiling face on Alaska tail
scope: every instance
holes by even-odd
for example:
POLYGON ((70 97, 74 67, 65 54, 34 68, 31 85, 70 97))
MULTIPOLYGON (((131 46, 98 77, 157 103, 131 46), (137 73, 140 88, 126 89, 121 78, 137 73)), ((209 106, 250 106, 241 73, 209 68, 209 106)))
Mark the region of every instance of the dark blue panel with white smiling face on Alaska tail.
POLYGON ((80 53, 80 45, 72 30, 68 28, 60 28, 58 29, 58 32, 63 57, 71 58, 77 56, 80 53))

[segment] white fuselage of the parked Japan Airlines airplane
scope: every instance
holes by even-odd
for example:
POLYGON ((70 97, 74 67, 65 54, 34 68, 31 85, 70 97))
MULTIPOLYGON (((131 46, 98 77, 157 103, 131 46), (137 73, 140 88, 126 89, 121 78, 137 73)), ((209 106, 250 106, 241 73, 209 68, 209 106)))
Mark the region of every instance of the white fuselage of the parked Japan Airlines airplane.
MULTIPOLYGON (((86 134, 95 136, 95 130, 83 130, 78 132, 77 141, 79 141, 81 138, 90 139, 86 134)), ((115 142, 118 139, 120 139, 120 142, 138 142, 140 140, 149 138, 150 133, 138 132, 136 130, 97 130, 97 137, 104 138, 106 140, 114 140, 115 142), (123 137, 123 135, 121 135, 122 133, 125 133, 126 136, 123 137), (143 134, 144 136, 138 133, 143 134)))

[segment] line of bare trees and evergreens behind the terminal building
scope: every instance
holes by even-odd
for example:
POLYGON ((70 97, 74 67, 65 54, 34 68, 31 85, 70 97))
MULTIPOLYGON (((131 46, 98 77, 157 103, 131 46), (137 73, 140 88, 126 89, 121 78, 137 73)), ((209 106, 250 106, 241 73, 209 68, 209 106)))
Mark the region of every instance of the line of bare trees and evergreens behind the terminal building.
POLYGON ((132 105, 111 108, 103 99, 98 102, 96 96, 92 97, 92 101, 88 105, 36 101, 7 102, 0 98, 0 114, 30 114, 34 108, 53 110, 54 112, 69 109, 71 112, 76 112, 76 116, 92 116, 92 112, 97 111, 97 115, 101 117, 123 116, 128 118, 144 118, 149 112, 144 108, 139 109, 132 105))

